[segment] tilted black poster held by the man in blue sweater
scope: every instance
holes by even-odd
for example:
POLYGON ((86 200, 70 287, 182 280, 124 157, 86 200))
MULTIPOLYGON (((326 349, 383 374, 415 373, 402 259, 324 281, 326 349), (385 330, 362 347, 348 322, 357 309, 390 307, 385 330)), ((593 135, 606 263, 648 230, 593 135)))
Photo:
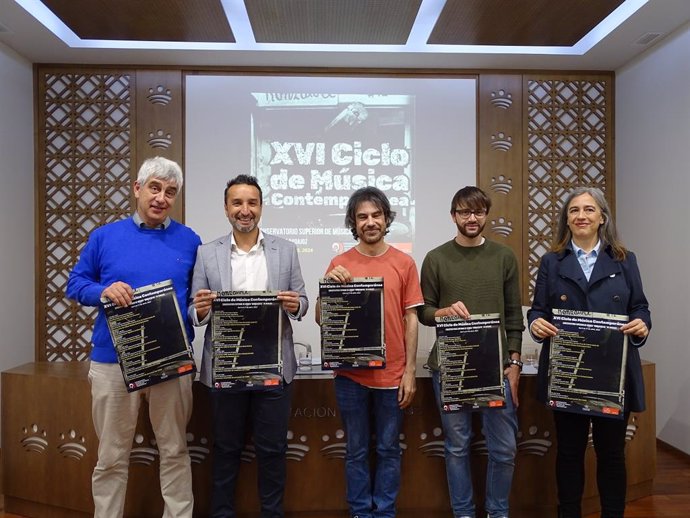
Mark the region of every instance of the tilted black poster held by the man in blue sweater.
POLYGON ((103 307, 128 392, 196 372, 172 281, 135 289, 127 307, 103 307))

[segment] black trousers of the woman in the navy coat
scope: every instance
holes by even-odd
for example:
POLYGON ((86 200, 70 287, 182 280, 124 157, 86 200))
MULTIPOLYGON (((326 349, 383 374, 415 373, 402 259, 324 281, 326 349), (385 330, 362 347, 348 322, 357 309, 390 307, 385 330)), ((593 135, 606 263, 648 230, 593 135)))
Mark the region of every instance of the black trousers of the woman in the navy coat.
POLYGON ((597 456, 597 487, 601 518, 623 518, 625 511, 625 430, 630 415, 623 419, 554 412, 558 452, 556 482, 560 518, 582 518, 585 485, 585 450, 592 423, 592 440, 597 456))

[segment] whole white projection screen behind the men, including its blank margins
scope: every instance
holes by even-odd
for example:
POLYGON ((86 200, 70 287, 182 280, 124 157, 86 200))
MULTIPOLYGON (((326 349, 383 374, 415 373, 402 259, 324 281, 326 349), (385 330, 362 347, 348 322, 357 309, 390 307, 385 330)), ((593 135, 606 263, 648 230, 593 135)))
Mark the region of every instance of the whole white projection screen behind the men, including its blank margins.
MULTIPOLYGON (((293 336, 314 364, 318 281, 334 256, 357 244, 345 227, 355 190, 373 185, 386 194, 397 213, 386 242, 418 266, 456 234, 451 198, 477 180, 475 77, 199 73, 185 76, 184 92, 185 223, 204 243, 227 236, 227 181, 259 179, 259 227, 299 253, 310 309, 293 322, 293 336)), ((420 358, 434 335, 420 328, 420 358)))

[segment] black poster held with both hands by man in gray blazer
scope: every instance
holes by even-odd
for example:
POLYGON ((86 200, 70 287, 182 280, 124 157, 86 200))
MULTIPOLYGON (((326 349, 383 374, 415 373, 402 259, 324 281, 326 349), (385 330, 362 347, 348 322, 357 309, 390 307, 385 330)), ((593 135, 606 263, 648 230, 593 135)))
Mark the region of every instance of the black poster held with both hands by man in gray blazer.
POLYGON ((219 291, 211 333, 214 388, 257 390, 282 384, 283 308, 278 292, 219 291))

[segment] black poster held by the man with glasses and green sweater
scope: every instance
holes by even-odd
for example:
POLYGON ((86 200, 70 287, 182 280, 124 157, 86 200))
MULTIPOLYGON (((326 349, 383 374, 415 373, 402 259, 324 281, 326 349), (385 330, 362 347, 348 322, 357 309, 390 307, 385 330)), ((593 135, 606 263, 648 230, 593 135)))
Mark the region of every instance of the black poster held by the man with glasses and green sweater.
POLYGON ((505 407, 500 330, 498 313, 436 318, 444 412, 505 407))

